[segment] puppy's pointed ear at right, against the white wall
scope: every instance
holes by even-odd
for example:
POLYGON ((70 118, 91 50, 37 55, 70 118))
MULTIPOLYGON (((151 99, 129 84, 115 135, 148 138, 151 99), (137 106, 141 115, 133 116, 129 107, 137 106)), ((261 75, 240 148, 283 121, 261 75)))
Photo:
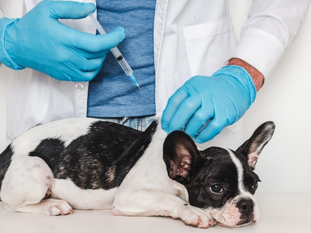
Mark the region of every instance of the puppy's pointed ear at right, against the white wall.
POLYGON ((267 121, 260 125, 253 135, 241 145, 236 152, 242 153, 248 162, 251 170, 255 169, 258 157, 265 147, 265 145, 270 141, 275 125, 272 121, 267 121))

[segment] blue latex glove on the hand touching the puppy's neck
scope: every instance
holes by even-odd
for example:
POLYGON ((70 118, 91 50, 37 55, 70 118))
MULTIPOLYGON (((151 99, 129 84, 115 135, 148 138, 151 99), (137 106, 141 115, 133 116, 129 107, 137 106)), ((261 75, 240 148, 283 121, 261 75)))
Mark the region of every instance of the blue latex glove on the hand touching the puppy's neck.
POLYGON ((203 143, 242 117, 255 98, 256 88, 248 72, 228 65, 211 77, 194 76, 179 88, 163 111, 162 128, 167 133, 184 129, 203 143))

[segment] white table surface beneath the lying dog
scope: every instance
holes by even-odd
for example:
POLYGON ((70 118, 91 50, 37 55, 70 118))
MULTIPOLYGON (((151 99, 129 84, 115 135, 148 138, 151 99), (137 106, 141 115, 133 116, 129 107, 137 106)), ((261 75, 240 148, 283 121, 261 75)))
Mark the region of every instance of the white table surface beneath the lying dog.
POLYGON ((67 216, 5 211, 0 202, 0 233, 311 233, 311 193, 257 192, 260 221, 230 229, 198 229, 168 217, 113 216, 110 210, 76 210, 67 216))

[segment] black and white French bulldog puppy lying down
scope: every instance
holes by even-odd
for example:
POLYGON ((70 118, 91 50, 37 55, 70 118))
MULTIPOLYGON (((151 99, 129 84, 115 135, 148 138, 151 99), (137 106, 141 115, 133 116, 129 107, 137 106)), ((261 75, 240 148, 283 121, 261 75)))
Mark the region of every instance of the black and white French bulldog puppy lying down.
POLYGON ((266 122, 237 151, 199 151, 184 132, 167 135, 158 119, 145 132, 93 118, 54 121, 2 152, 0 199, 5 210, 27 213, 112 209, 200 228, 246 226, 259 219, 253 170, 273 132, 266 122))

